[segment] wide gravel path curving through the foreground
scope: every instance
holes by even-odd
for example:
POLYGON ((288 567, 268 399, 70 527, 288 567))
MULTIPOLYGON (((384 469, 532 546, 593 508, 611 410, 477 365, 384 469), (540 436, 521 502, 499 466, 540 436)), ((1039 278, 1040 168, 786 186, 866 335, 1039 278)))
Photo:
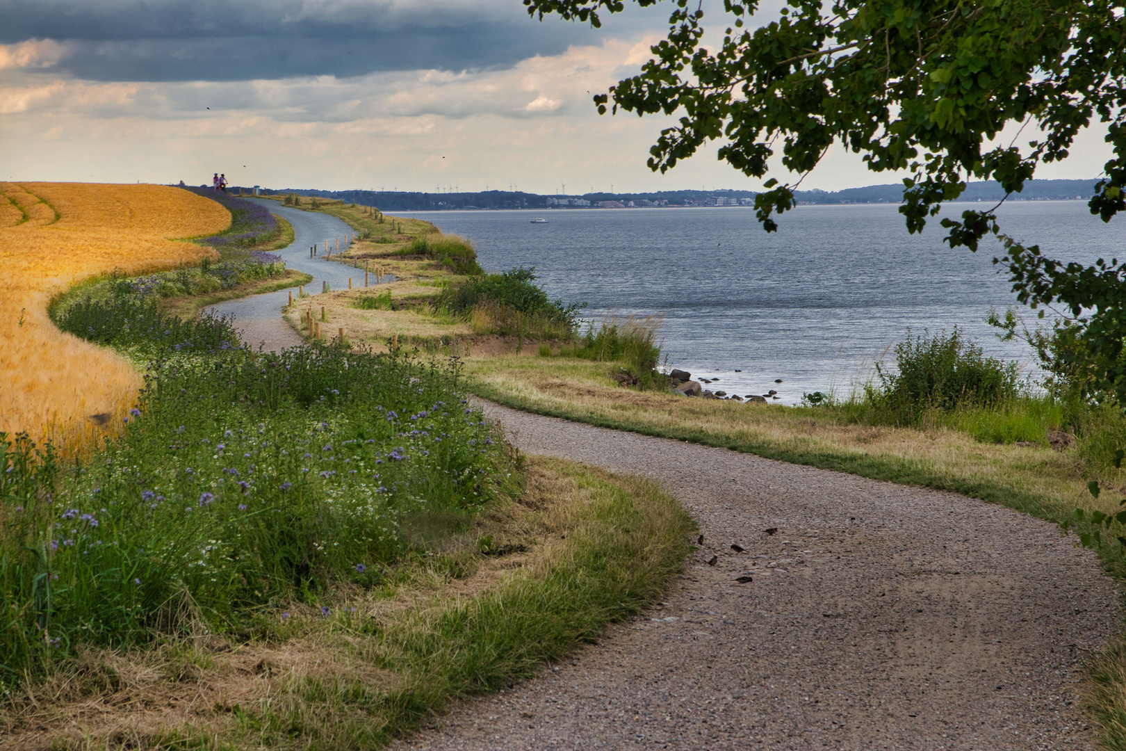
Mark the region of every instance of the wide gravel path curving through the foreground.
POLYGON ((525 452, 660 480, 704 545, 652 613, 399 749, 1091 748, 1079 660, 1118 631, 1118 592, 1055 526, 951 493, 488 411, 525 452))

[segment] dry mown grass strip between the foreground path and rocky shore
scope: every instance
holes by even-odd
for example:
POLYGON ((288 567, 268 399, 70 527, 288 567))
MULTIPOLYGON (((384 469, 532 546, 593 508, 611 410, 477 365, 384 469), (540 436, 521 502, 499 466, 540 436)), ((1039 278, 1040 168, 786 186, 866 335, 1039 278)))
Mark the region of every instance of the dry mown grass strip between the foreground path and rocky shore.
POLYGON ((848 424, 829 410, 703 400, 623 388, 606 364, 573 358, 466 361, 474 393, 508 406, 644 435, 759 454, 904 484, 953 490, 1053 521, 1076 506, 1117 511, 1126 485, 1103 483, 1100 501, 1070 453, 982 444, 936 428, 848 424), (1108 492, 1109 490, 1109 492, 1108 492))

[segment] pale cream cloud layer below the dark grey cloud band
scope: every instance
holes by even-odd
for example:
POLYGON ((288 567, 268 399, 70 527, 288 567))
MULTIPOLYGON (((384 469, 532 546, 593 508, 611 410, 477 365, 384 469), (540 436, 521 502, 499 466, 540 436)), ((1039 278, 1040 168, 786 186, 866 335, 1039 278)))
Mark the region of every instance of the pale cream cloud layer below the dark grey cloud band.
MULTIPOLYGON (((653 173, 649 147, 670 118, 596 114, 591 97, 636 72, 658 38, 572 46, 503 70, 167 83, 56 77, 39 71, 60 48, 9 45, 0 179, 199 184, 223 171, 235 185, 276 188, 759 188, 716 161, 715 144, 653 173)), ((1071 173, 1044 177, 1097 173, 1105 147, 1088 136, 1080 145, 1071 173)), ((831 150, 803 187, 895 179, 831 150)))

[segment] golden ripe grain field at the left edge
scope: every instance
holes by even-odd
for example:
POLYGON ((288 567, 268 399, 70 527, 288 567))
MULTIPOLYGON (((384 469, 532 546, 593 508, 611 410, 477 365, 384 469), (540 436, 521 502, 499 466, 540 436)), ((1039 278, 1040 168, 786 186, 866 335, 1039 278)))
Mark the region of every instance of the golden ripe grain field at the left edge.
POLYGON ((59 331, 47 306, 114 269, 196 263, 215 251, 173 239, 230 224, 217 203, 179 188, 0 182, 0 432, 50 437, 70 452, 97 440, 98 422, 120 424, 140 376, 114 352, 59 331))

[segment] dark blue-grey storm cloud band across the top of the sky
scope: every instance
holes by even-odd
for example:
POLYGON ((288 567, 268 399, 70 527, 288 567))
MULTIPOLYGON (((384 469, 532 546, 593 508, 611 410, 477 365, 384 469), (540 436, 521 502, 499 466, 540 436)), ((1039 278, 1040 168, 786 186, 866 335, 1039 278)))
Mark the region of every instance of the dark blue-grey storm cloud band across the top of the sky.
POLYGON ((660 28, 634 10, 596 32, 528 18, 519 0, 0 0, 0 43, 54 39, 45 73, 96 81, 238 81, 378 71, 502 68, 607 30, 660 28))

